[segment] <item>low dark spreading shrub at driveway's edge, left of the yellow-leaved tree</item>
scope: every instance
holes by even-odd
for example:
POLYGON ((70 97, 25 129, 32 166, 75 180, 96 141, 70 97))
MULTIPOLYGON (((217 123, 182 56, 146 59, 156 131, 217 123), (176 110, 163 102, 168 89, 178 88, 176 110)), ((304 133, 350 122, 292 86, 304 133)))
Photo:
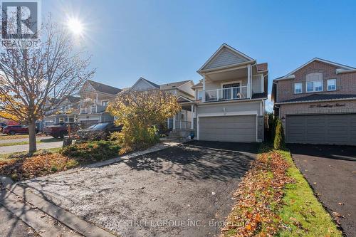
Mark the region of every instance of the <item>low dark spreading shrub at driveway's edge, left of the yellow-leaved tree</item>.
POLYGON ((110 141, 93 141, 73 144, 64 147, 61 154, 78 160, 81 164, 100 162, 117 157, 120 147, 110 141))

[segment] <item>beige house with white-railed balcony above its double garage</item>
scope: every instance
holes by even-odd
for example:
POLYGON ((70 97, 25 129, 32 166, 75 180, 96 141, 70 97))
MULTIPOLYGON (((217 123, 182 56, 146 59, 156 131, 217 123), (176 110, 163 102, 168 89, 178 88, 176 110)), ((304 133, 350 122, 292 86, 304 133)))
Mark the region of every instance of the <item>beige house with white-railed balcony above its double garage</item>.
MULTIPOLYGON (((191 133, 199 140, 262 142, 268 65, 223 44, 197 71, 191 133)), ((179 128, 172 132, 179 134, 179 128)), ((189 131, 188 131, 189 132, 189 131)), ((188 132, 180 132, 186 136, 188 132)))

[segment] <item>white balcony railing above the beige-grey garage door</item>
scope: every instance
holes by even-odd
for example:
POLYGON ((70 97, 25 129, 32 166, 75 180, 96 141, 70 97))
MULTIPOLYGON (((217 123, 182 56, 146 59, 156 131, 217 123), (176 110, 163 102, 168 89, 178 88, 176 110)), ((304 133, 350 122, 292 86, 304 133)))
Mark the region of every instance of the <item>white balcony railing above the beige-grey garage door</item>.
POLYGON ((241 100, 247 97, 247 85, 236 88, 221 88, 215 90, 205 90, 205 102, 220 100, 241 100))

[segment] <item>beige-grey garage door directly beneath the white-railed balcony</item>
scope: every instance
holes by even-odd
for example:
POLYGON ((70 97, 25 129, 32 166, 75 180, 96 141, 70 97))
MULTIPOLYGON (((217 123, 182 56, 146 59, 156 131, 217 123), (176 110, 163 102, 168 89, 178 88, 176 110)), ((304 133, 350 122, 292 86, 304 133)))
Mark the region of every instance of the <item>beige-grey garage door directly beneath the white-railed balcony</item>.
POLYGON ((199 139, 256 142, 256 115, 199 117, 199 139))

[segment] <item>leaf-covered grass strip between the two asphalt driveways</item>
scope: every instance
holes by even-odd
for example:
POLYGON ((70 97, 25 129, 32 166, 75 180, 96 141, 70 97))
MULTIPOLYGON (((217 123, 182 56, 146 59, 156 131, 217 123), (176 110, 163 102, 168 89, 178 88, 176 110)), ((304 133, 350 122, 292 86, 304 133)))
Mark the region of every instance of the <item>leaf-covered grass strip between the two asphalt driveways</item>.
POLYGON ((263 147, 234 195, 222 236, 342 236, 289 152, 263 147))

